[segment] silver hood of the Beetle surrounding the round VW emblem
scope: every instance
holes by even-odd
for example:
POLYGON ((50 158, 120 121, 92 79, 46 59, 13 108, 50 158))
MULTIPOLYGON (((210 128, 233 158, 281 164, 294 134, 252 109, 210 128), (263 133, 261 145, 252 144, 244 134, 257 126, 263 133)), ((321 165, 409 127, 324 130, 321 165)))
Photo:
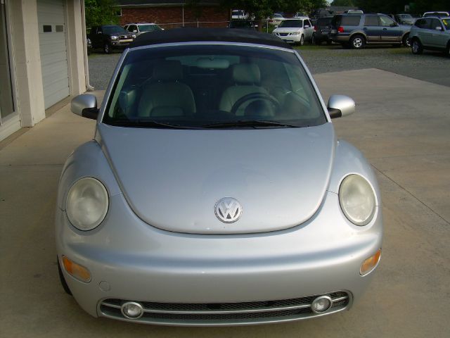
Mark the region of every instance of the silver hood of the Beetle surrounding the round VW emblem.
POLYGON ((268 232, 300 225, 321 205, 333 165, 333 125, 167 130, 99 124, 96 139, 134 213, 162 230, 268 232), (214 207, 242 207, 223 223, 214 207))

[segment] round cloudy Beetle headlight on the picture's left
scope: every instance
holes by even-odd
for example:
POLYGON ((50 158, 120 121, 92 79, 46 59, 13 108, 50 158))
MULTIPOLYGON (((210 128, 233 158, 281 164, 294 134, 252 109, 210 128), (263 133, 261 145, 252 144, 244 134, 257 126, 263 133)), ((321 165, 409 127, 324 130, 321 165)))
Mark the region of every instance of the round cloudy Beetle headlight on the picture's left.
POLYGON ((108 192, 100 181, 85 177, 70 187, 65 211, 70 223, 79 230, 97 227, 108 212, 108 192))

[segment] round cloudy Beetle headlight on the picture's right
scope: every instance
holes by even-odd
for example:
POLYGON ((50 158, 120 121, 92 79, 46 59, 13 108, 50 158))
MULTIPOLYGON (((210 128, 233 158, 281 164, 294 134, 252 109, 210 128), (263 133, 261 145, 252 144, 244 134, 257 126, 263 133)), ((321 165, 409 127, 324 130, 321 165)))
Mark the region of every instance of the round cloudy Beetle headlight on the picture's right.
POLYGON ((359 175, 348 175, 339 187, 339 203, 350 222, 366 225, 375 214, 375 193, 371 184, 359 175))

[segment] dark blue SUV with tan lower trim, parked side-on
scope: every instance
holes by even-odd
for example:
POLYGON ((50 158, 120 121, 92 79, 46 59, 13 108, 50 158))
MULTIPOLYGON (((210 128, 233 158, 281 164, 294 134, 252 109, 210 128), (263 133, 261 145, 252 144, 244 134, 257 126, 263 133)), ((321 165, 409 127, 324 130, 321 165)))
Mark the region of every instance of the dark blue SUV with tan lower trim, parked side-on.
POLYGON ((331 20, 330 38, 353 49, 366 44, 409 46, 411 26, 399 25, 385 14, 340 14, 331 20))

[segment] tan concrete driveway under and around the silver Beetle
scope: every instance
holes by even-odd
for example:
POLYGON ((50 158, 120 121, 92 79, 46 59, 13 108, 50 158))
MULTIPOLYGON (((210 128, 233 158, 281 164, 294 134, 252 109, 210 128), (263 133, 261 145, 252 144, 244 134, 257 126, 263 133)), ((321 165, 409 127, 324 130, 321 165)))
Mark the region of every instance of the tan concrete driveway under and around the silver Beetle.
POLYGON ((374 69, 316 80, 326 99, 355 99, 356 114, 333 122, 368 157, 383 192, 382 262, 351 311, 221 328, 84 313, 59 284, 53 212, 65 158, 92 137, 94 121, 65 106, 0 143, 0 337, 450 337, 450 88, 374 69))

